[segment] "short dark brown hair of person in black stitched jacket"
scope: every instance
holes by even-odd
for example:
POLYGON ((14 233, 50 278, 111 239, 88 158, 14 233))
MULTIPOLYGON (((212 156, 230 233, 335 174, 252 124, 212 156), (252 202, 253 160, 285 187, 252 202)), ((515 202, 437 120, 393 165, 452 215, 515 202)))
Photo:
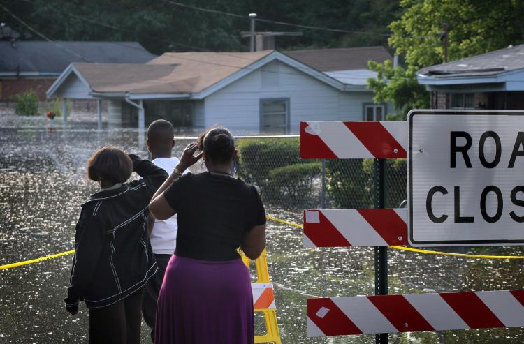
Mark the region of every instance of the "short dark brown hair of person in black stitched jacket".
POLYGON ((133 172, 133 162, 121 149, 105 146, 95 151, 87 162, 87 177, 93 181, 124 183, 133 172))

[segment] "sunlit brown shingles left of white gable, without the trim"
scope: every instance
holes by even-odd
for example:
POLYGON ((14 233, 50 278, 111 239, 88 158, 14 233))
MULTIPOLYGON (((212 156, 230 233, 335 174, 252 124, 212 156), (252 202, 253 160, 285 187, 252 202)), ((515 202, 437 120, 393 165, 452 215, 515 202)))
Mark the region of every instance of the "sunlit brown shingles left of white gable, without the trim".
POLYGON ((271 52, 180 52, 163 54, 145 64, 73 63, 73 66, 93 91, 197 93, 271 52))

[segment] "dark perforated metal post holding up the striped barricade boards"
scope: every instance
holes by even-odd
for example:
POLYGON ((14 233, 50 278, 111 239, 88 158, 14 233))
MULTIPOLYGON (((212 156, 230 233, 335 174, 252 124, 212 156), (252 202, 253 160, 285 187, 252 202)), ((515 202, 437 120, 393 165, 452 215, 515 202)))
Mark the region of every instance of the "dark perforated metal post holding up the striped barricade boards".
MULTIPOLYGON (((386 207, 386 160, 374 160, 374 207, 386 207)), ((374 248, 374 294, 388 294, 388 247, 374 248)), ((388 344, 388 334, 375 334, 375 343, 388 344)))

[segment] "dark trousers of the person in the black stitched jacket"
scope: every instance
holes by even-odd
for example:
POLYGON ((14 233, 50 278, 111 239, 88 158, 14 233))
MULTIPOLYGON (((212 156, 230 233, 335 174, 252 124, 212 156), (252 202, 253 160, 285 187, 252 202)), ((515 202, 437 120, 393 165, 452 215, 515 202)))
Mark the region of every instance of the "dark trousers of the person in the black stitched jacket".
POLYGON ((89 308, 89 343, 140 344, 143 294, 140 289, 111 306, 89 308))

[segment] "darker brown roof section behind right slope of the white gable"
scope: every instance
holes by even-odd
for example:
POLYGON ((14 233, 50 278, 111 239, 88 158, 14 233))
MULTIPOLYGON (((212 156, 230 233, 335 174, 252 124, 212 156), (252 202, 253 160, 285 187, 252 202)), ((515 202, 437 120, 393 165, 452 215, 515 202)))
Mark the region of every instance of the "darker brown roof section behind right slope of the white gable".
POLYGON ((384 47, 299 50, 284 52, 284 54, 322 72, 368 69, 368 61, 382 63, 392 59, 391 54, 384 47))

